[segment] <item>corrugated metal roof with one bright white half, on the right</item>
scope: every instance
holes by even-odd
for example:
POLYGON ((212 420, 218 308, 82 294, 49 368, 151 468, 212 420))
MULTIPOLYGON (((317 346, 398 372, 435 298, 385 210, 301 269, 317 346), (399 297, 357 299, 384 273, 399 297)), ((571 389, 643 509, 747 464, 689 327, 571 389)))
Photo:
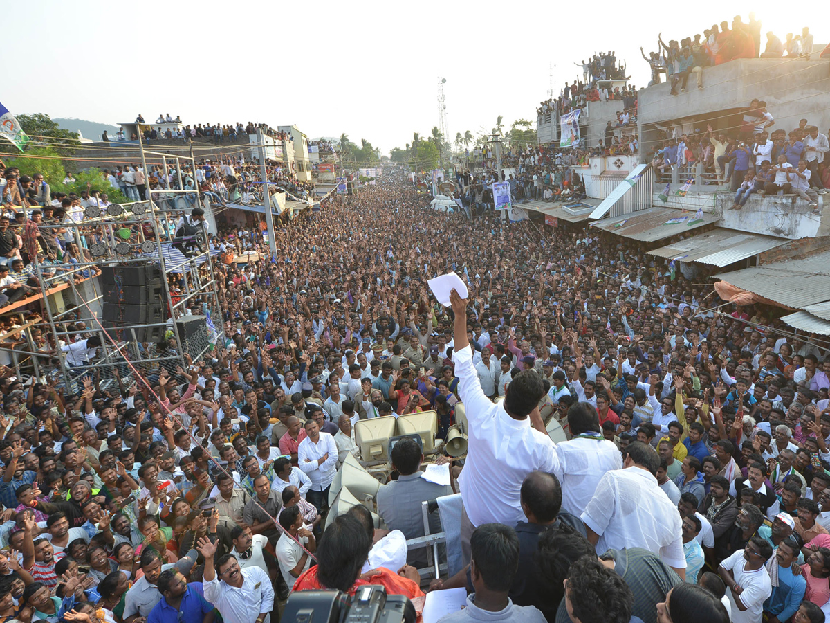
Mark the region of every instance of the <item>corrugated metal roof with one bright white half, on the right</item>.
POLYGON ((656 255, 658 258, 680 259, 683 262, 701 262, 724 267, 732 262, 751 258, 762 251, 780 247, 787 242, 783 238, 717 227, 710 232, 684 238, 646 253, 656 255))

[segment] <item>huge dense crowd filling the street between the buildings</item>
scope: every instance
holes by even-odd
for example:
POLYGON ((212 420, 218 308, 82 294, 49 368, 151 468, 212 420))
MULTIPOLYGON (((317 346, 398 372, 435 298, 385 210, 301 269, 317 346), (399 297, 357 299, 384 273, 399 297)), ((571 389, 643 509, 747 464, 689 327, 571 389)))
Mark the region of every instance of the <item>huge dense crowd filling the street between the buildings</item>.
POLYGON ((0 368, 0 615, 267 623, 290 591, 380 584, 418 612, 466 587, 450 623, 822 623, 830 345, 774 308, 709 309, 706 272, 632 241, 425 203, 390 173, 280 219, 276 258, 251 228, 262 259, 213 267, 221 339, 177 370, 107 386, 83 374, 94 321, 66 344, 40 327, 78 384, 0 368), (449 271, 469 295, 442 307, 427 279, 449 271), (427 587, 404 541, 447 491, 417 443, 378 492, 390 532, 362 505, 321 518, 355 422, 435 409, 446 430, 459 400, 465 568, 427 587))

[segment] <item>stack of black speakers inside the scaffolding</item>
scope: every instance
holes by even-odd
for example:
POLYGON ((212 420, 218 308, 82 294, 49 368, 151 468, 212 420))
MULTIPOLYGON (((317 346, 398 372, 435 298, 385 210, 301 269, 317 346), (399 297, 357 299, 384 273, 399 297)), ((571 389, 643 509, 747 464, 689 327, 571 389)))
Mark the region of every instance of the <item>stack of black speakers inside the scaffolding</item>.
MULTIPOLYGON (((164 275, 158 264, 101 267, 100 283, 107 328, 125 329, 137 325, 135 337, 142 342, 164 340, 164 275)), ((125 334, 124 339, 131 339, 125 334)))

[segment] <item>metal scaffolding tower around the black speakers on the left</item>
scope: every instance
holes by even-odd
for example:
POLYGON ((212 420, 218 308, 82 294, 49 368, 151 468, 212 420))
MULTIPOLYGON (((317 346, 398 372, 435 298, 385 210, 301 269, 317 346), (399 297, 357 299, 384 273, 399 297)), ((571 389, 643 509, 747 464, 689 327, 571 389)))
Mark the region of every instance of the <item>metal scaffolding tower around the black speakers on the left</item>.
MULTIPOLYGON (((170 176, 165 174, 166 188, 147 189, 147 199, 106 207, 90 206, 85 208, 83 218, 67 218, 66 223, 37 223, 38 229, 52 229, 54 235, 60 235, 67 244, 75 243, 82 251, 69 263, 66 259, 59 265, 32 262, 32 271, 40 282, 40 296, 32 295, 0 308, 2 316, 9 313, 20 316, 22 326, 0 341, 0 351, 10 356, 18 378, 26 373, 42 379, 44 368, 48 367, 58 376, 59 384, 62 380, 72 391, 76 390, 76 380, 89 374, 99 379, 102 386, 117 380, 128 383, 132 370, 127 360, 143 375, 154 375, 161 367, 174 374, 178 366, 188 365, 187 356, 191 361, 198 361, 211 346, 206 337, 207 325, 212 327, 213 319, 220 319, 215 336, 221 339, 222 314, 212 266, 212 255, 217 252, 208 248, 205 228, 189 238, 174 238, 180 218, 187 218, 192 208, 202 207, 198 189, 184 189, 183 184, 183 163, 190 164, 195 184, 193 152, 186 158, 144 150, 141 145, 144 174, 149 177, 148 156, 151 164, 156 164, 152 160, 163 164, 165 173, 168 162, 175 160, 178 189, 171 188, 170 176), (101 269, 149 266, 159 267, 160 292, 151 299, 153 291, 148 284, 145 304, 152 306, 148 310, 160 310, 160 316, 156 314, 152 321, 145 323, 106 322, 102 314, 105 295, 99 278, 101 269), (22 307, 38 301, 41 314, 27 318, 22 307), (194 303, 198 305, 198 312, 206 316, 205 331, 199 331, 196 339, 186 336, 180 323, 173 320, 193 317, 185 316, 184 312, 194 303), (32 339, 32 329, 44 322, 51 332, 51 344, 47 344, 48 349, 38 349, 32 339), (25 345, 9 343, 10 336, 17 335, 25 345), (100 335, 102 346, 94 362, 71 366, 60 346, 76 341, 79 335, 100 335), (154 336, 154 340, 140 339, 148 335, 154 336), (175 345, 165 339, 171 335, 175 345)), ((141 305, 141 302, 125 301, 125 304, 141 305)))

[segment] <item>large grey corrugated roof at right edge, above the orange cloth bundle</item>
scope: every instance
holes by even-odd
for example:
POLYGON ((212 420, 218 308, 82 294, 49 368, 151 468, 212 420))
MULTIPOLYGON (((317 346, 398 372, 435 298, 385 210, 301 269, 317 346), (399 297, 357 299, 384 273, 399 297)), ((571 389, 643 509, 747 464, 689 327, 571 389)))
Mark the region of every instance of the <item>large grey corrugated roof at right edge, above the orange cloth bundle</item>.
POLYGON ((793 309, 830 302, 830 252, 721 272, 715 277, 793 309))

